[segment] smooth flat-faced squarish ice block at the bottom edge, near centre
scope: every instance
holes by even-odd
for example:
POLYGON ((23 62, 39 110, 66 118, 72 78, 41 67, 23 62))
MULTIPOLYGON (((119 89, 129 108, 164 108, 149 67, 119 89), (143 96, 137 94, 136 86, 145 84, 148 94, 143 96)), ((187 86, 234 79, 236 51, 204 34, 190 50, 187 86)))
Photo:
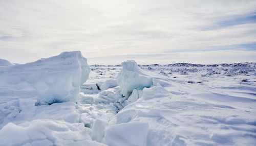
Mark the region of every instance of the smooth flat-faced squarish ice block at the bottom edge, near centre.
POLYGON ((146 145, 148 123, 130 122, 106 128, 105 142, 109 145, 146 145))

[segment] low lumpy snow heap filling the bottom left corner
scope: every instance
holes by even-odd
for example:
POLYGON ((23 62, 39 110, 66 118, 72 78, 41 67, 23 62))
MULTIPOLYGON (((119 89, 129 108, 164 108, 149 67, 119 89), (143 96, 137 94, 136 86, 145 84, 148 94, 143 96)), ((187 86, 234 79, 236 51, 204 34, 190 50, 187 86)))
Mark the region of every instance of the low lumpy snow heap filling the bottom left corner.
POLYGON ((82 124, 33 120, 7 124, 0 131, 0 145, 105 145, 91 140, 90 129, 82 124))

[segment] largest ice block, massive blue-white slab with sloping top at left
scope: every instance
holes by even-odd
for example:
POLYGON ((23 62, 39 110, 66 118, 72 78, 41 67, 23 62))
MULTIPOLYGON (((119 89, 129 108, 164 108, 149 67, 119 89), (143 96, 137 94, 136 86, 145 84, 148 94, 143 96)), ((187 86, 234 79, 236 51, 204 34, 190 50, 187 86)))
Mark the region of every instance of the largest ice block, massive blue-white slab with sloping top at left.
POLYGON ((81 52, 63 52, 32 63, 3 66, 0 72, 0 88, 29 90, 37 98, 35 105, 45 105, 75 102, 90 67, 81 52))

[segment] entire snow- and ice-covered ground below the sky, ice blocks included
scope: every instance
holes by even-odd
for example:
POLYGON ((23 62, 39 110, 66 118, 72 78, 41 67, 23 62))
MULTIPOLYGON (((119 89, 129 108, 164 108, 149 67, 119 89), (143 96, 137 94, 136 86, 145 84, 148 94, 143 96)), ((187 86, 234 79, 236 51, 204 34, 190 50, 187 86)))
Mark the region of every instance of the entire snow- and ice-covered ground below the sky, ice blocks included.
POLYGON ((256 63, 2 62, 0 145, 256 145, 256 63))

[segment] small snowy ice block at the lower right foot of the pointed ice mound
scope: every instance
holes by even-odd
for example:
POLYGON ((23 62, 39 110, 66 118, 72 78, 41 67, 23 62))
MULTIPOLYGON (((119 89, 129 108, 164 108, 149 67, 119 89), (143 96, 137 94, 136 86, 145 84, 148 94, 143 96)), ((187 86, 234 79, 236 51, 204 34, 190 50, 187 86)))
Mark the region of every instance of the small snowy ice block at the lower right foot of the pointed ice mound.
POLYGON ((154 98, 163 98, 168 96, 170 93, 162 86, 152 86, 151 88, 143 89, 143 99, 150 100, 154 98))

